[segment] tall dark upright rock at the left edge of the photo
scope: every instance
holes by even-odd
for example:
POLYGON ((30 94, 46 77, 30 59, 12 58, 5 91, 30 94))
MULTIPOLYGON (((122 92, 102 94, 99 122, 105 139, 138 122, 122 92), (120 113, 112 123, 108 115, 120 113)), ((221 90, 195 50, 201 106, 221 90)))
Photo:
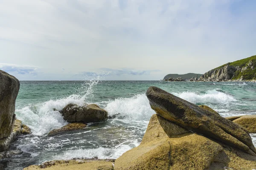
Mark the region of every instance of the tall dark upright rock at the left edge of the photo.
POLYGON ((19 89, 19 80, 0 70, 0 139, 7 138, 12 133, 15 100, 19 89))

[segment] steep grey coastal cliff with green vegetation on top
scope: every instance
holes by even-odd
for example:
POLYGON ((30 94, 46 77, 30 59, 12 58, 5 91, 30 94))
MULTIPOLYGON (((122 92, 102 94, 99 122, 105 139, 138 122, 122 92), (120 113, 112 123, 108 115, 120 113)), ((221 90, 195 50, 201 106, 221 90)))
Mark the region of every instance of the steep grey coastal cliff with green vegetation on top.
POLYGON ((203 74, 200 81, 227 81, 256 79, 256 55, 235 62, 228 62, 203 74))

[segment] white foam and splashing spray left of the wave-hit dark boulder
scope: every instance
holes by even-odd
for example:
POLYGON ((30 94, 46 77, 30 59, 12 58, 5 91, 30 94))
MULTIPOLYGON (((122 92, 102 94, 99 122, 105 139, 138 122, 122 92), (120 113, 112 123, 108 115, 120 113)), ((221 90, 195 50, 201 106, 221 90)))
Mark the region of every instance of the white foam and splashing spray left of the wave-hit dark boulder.
POLYGON ((67 124, 58 111, 63 109, 70 103, 84 105, 90 102, 89 98, 93 96, 93 87, 99 83, 99 80, 86 82, 82 87, 84 90, 81 94, 73 94, 63 99, 49 100, 47 102, 29 105, 21 109, 17 109, 15 113, 25 125, 31 128, 32 134, 42 136, 49 133, 50 130, 60 128, 67 124))

